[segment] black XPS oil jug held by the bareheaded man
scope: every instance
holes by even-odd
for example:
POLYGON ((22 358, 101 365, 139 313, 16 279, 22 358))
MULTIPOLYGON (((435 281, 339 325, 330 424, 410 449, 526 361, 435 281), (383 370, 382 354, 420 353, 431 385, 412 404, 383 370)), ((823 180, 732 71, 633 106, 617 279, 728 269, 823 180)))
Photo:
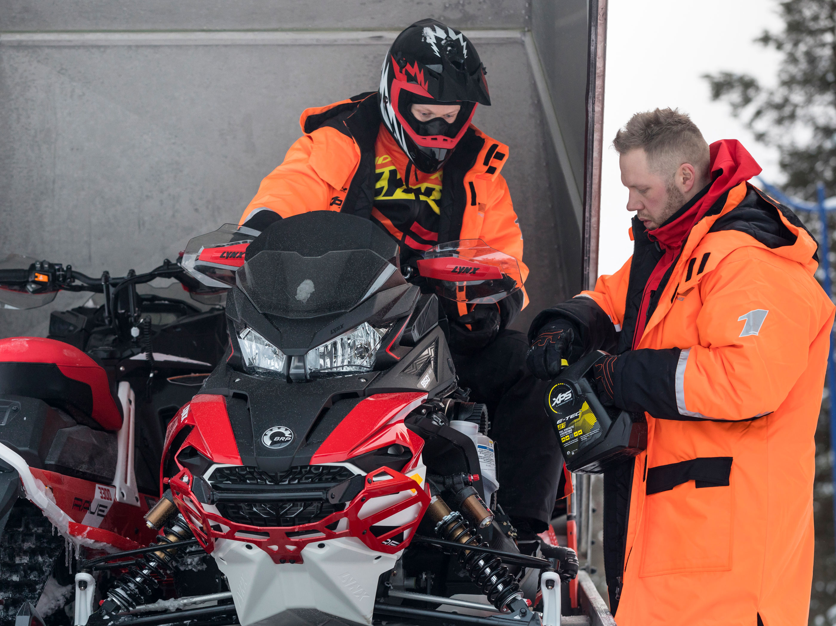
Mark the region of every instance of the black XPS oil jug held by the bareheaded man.
POLYGON ((545 409, 569 472, 599 474, 647 447, 644 414, 606 407, 595 393, 593 366, 605 354, 590 352, 548 386, 545 409))

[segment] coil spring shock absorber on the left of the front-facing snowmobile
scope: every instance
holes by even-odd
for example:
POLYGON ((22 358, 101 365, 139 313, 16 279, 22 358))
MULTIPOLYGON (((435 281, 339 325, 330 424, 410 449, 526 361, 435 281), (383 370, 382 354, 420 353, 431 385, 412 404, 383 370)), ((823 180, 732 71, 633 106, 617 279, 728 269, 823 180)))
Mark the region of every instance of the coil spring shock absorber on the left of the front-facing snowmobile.
POLYGON ((136 563, 131 565, 108 591, 107 599, 99 609, 99 614, 103 616, 130 611, 131 608, 145 603, 154 589, 168 576, 176 562, 181 549, 176 544, 193 537, 186 518, 177 511, 170 491, 166 490, 160 501, 145 514, 145 521, 149 528, 159 529, 166 524, 162 534, 157 536, 157 545, 171 548, 138 557, 136 563))

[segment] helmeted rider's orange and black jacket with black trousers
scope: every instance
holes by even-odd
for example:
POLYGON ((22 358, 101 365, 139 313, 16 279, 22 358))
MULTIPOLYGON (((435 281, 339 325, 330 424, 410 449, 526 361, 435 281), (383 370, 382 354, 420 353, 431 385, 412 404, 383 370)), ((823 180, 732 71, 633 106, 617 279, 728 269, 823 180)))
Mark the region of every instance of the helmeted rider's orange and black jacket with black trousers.
MULTIPOLYGON (((380 202, 388 197, 375 197, 382 183, 381 172, 375 170, 383 165, 375 167, 376 149, 381 143, 394 143, 385 141, 390 136, 380 123, 378 98, 376 92, 362 93, 305 109, 299 120, 302 137, 293 143, 283 163, 263 179, 240 223, 265 215, 274 220, 272 214, 288 218, 314 210, 341 211, 375 221, 389 232, 401 246, 402 263, 433 241, 483 240, 515 257, 525 280, 523 235, 501 174, 508 160, 507 146, 470 124, 441 170, 440 197, 431 196, 439 209, 437 231, 427 232, 417 220, 412 228, 395 224, 380 202), (380 138, 379 134, 387 135, 380 138)), ((405 154, 401 156, 405 161, 405 154)), ((385 175, 400 179, 400 184, 415 182, 414 174, 398 169, 396 176, 385 175)), ((416 198, 419 193, 415 189, 416 198)), ((527 304, 524 288, 501 300, 502 326, 496 339, 475 354, 453 350, 453 356, 461 386, 472 390, 472 401, 487 405, 492 435, 502 442, 497 474, 503 508, 517 520, 535 520, 540 532, 548 528, 558 492, 563 496, 572 486, 563 472, 557 438, 541 408, 542 385, 528 375, 526 337, 506 328, 527 304)), ((457 310, 445 306, 446 316, 463 315, 464 303, 458 305, 457 310)))

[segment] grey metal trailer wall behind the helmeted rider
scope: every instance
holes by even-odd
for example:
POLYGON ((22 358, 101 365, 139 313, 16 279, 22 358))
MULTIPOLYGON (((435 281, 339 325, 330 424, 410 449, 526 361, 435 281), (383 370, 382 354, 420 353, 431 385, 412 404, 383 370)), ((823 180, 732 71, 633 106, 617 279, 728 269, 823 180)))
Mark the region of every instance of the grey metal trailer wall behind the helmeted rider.
MULTIPOLYGON (((89 275, 175 259, 237 221, 303 109, 376 89, 389 43, 426 17, 488 68, 475 123, 510 147, 526 330, 580 286, 585 0, 4 0, 0 251, 89 275)), ((44 335, 48 310, 78 304, 2 310, 0 336, 44 335)))

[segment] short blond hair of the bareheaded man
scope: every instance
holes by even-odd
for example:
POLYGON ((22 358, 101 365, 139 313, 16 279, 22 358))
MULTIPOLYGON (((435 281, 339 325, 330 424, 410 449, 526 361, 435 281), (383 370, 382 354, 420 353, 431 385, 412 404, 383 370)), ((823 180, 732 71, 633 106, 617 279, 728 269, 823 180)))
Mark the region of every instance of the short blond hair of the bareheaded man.
POLYGON ((708 144, 688 114, 679 109, 655 109, 635 114, 613 139, 621 154, 641 148, 657 174, 672 177, 680 165, 689 163, 696 175, 711 179, 708 144))

